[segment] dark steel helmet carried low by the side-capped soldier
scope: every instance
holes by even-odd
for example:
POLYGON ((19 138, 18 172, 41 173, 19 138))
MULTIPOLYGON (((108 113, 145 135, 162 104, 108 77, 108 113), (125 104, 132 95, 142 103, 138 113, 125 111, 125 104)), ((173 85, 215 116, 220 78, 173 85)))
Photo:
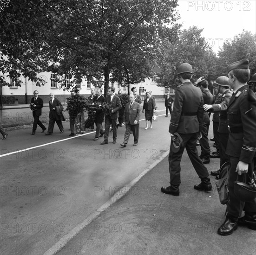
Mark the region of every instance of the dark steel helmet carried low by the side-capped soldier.
POLYGON ((244 182, 235 181, 234 193, 241 201, 249 202, 254 200, 256 198, 256 184, 254 180, 250 185, 244 182))

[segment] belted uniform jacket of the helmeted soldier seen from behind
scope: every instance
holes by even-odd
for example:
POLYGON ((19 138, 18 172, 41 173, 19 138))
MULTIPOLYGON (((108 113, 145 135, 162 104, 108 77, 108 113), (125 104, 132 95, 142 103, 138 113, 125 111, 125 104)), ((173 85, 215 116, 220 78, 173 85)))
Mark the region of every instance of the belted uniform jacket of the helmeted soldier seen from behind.
POLYGON ((177 86, 171 115, 169 132, 193 134, 203 127, 203 94, 191 82, 177 86))

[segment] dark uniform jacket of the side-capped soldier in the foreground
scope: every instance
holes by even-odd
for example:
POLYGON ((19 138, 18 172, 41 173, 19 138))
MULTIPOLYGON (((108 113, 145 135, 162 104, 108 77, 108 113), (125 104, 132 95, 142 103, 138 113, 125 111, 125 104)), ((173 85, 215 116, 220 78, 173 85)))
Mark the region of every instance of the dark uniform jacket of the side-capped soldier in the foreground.
POLYGON ((249 86, 244 85, 227 108, 230 135, 226 153, 245 163, 256 157, 256 103, 250 102, 249 95, 249 86))

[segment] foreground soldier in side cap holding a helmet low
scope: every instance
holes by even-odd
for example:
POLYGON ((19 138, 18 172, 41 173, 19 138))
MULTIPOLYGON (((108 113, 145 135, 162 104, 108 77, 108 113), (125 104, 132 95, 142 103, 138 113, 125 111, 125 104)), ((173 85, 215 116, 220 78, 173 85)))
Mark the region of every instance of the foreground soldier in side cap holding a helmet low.
POLYGON ((226 219, 218 229, 218 234, 222 236, 232 234, 238 225, 256 230, 256 199, 243 202, 234 193, 234 181, 248 183, 248 175, 252 176, 256 157, 256 98, 253 98, 247 84, 250 77, 249 61, 243 59, 232 63, 227 70, 234 93, 227 108, 230 135, 226 153, 230 156, 230 200, 227 203, 226 219), (245 215, 238 219, 242 210, 245 215))

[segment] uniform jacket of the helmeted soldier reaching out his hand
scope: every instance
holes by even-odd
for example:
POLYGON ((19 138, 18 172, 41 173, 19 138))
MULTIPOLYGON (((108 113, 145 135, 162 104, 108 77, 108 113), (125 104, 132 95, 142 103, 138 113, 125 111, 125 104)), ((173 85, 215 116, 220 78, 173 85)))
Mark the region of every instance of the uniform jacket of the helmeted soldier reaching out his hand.
POLYGON ((214 113, 219 114, 218 132, 222 134, 229 134, 227 108, 228 108, 232 93, 228 89, 221 95, 222 95, 220 98, 221 101, 218 104, 213 104, 212 110, 214 113))

